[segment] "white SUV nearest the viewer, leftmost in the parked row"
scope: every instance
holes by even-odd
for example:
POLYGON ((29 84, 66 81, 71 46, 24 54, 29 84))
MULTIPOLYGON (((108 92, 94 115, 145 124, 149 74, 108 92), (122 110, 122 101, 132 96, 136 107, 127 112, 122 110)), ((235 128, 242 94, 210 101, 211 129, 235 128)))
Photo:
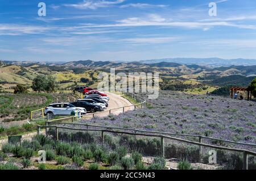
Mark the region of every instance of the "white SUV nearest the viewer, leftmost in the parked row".
POLYGON ((86 109, 84 107, 76 107, 70 103, 53 103, 45 108, 44 115, 49 114, 49 117, 51 118, 54 116, 68 116, 75 110, 79 110, 82 115, 86 114, 86 109))

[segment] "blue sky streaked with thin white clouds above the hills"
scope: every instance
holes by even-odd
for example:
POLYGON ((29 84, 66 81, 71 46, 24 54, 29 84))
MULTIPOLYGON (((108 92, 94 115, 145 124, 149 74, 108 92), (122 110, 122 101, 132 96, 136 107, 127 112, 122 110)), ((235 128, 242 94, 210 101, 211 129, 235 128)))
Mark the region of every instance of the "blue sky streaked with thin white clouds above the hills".
POLYGON ((255 49, 255 0, 0 0, 0 60, 256 59, 255 49))

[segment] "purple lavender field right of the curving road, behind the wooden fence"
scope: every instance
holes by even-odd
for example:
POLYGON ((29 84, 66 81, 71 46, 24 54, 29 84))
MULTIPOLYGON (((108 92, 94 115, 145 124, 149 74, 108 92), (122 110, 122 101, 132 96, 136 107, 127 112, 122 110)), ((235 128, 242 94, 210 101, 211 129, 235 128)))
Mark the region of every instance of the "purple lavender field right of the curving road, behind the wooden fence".
POLYGON ((256 103, 220 96, 161 91, 158 99, 147 100, 147 108, 119 116, 94 117, 85 122, 88 121, 99 125, 256 142, 256 103))

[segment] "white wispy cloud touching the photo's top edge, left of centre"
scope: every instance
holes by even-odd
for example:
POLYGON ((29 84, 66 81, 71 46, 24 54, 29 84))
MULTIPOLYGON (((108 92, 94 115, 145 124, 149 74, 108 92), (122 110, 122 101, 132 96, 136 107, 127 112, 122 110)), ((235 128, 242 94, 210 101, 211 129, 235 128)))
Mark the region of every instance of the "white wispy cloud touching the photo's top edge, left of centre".
POLYGON ((125 2, 125 0, 116 0, 116 1, 86 1, 84 0, 84 2, 81 3, 77 3, 77 4, 64 4, 64 6, 66 7, 75 7, 77 9, 92 9, 92 10, 96 10, 98 8, 102 8, 102 7, 110 7, 113 5, 118 5, 125 2))

